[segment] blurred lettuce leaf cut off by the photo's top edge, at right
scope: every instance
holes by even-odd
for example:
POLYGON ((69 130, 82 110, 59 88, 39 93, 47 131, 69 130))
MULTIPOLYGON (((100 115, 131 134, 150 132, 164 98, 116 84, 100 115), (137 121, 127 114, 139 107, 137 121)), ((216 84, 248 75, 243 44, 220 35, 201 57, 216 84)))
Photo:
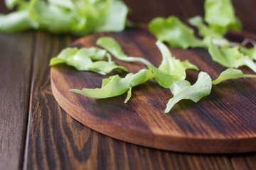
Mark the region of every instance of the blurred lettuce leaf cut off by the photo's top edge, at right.
POLYGON ((225 35, 230 29, 241 30, 242 28, 230 0, 206 0, 204 11, 204 20, 215 33, 225 35))

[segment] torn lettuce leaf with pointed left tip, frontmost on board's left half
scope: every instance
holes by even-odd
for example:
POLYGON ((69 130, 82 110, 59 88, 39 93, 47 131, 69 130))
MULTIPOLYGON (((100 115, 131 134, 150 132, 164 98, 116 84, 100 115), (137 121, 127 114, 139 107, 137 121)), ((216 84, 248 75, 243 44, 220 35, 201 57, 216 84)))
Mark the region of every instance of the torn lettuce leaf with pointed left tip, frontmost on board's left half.
POLYGON ((107 79, 103 79, 101 89, 84 88, 82 90, 70 89, 70 91, 90 98, 110 98, 122 95, 128 91, 127 99, 124 101, 126 103, 132 96, 132 87, 142 84, 153 77, 154 75, 151 71, 148 69, 142 69, 136 74, 129 73, 124 78, 119 77, 119 75, 114 75, 107 79))

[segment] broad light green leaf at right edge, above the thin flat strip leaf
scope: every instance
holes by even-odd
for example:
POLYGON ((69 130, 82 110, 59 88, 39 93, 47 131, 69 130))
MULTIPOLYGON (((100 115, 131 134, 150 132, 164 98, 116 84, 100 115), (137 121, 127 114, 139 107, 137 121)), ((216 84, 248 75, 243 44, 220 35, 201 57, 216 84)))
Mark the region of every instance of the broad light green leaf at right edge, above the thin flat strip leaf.
POLYGON ((218 48, 213 45, 213 42, 210 42, 208 52, 213 58, 213 61, 218 62, 225 67, 238 68, 245 65, 256 72, 255 62, 253 62, 249 56, 243 55, 238 46, 218 48))

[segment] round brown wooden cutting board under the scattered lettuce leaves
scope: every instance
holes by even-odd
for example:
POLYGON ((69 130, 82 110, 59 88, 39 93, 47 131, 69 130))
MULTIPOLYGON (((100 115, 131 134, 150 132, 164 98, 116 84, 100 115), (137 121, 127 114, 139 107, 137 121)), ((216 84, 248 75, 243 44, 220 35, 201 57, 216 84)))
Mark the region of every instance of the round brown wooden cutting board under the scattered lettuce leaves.
MULTIPOLYGON (((159 67, 161 53, 156 38, 146 27, 125 30, 122 33, 99 33, 75 41, 70 47, 95 47, 100 36, 112 36, 128 56, 144 57, 159 67)), ((230 33, 228 38, 242 41, 244 34, 230 33)), ((255 35, 250 38, 255 38, 255 35)), ((216 79, 225 67, 213 62, 207 50, 189 50, 169 47, 172 55, 189 60, 200 71, 216 79)), ((139 62, 114 62, 139 72, 146 68, 139 62)), ((242 72, 255 74, 247 67, 242 72)), ((172 97, 169 89, 159 86, 154 79, 132 89, 127 94, 94 99, 68 91, 69 89, 100 88, 102 76, 94 72, 78 72, 73 67, 59 64, 51 68, 53 95, 60 106, 75 120, 97 132, 118 140, 157 149, 194 153, 237 153, 256 151, 256 79, 234 79, 213 85, 209 96, 198 103, 180 101, 169 114, 164 114, 166 103, 172 97)), ((126 73, 120 74, 124 77, 126 73)), ((193 84, 197 71, 189 70, 187 80, 193 84)))

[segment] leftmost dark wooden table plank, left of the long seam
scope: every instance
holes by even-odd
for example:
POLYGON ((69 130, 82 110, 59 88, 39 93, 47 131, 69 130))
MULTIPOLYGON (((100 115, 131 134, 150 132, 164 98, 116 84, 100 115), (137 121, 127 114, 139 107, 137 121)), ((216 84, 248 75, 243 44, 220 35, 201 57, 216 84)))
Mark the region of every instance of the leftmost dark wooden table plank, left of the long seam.
POLYGON ((0 33, 0 169, 23 161, 33 57, 33 33, 0 33))

